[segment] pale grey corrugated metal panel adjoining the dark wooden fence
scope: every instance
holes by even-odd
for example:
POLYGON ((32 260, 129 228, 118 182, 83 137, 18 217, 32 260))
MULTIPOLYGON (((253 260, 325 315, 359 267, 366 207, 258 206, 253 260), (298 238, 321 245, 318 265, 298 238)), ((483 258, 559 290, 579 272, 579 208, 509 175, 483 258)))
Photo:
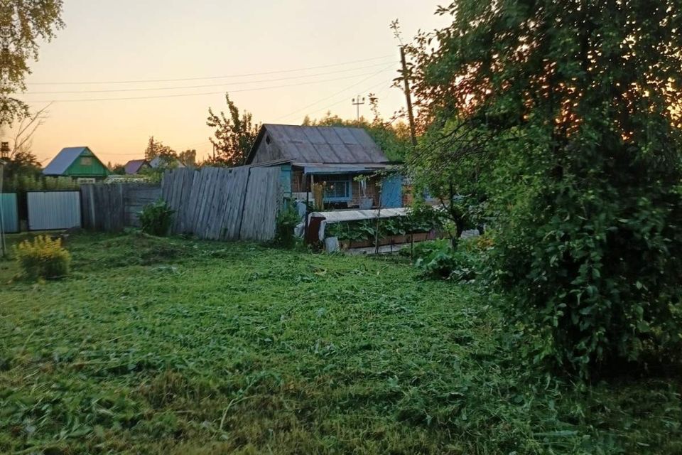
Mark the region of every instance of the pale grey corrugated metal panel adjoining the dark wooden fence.
POLYGON ((80 227, 80 191, 30 191, 28 230, 80 227))

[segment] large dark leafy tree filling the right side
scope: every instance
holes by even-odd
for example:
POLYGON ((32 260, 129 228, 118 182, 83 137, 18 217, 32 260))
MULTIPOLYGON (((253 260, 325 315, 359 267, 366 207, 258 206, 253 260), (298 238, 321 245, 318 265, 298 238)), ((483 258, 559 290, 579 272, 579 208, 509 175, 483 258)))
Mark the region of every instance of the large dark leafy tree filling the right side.
POLYGON ((583 375, 680 352, 681 10, 457 0, 411 48, 423 121, 517 138, 486 176, 497 276, 536 358, 583 375))

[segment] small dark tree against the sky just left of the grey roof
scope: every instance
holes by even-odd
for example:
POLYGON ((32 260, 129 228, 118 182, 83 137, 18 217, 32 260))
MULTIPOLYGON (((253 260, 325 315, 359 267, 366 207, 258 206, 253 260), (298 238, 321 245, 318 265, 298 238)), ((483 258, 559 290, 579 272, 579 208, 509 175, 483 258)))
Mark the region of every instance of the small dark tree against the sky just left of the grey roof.
POLYGON ((260 124, 254 124, 250 112, 239 114, 239 109, 225 93, 227 115, 224 112, 215 114, 208 108, 206 124, 215 128, 215 137, 210 138, 217 155, 212 164, 222 166, 241 166, 246 161, 251 147, 256 143, 256 137, 261 129, 260 124))

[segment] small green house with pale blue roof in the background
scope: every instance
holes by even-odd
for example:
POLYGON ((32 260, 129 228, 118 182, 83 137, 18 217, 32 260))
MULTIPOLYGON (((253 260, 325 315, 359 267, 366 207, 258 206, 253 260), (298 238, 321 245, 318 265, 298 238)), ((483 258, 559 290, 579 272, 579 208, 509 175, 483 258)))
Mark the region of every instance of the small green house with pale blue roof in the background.
POLYGON ((79 183, 102 180, 109 175, 109 169, 88 147, 67 147, 43 169, 44 176, 71 177, 79 183))

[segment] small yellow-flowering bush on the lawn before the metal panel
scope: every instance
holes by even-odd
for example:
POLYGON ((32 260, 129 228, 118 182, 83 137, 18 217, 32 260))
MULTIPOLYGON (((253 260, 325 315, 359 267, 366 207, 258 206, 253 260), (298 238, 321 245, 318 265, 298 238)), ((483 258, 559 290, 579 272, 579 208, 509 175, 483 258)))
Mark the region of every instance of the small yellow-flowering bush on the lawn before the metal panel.
POLYGON ((24 240, 14 247, 14 255, 28 279, 54 279, 69 274, 71 255, 60 239, 40 235, 33 242, 24 240))

